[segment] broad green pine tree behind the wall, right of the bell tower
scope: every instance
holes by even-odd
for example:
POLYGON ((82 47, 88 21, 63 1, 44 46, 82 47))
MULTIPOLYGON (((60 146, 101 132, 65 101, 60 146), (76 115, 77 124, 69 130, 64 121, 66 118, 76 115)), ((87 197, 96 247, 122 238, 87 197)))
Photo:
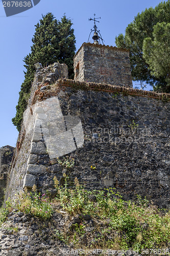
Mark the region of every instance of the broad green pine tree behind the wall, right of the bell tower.
MULTIPOLYGON (((170 92, 169 82, 166 79, 166 71, 168 69, 167 62, 169 62, 168 47, 164 47, 164 44, 168 44, 169 32, 159 27, 160 34, 166 33, 166 35, 157 43, 155 27, 158 23, 164 23, 168 26, 170 23, 170 1, 162 2, 154 8, 145 9, 145 11, 138 13, 135 16, 133 22, 126 28, 125 36, 119 34, 116 37, 115 42, 117 47, 127 48, 130 50, 130 61, 133 80, 147 81, 150 83, 154 90, 161 90, 163 92, 170 92), (161 31, 160 31, 161 30, 161 31), (149 47, 152 43, 152 48, 149 47), (147 40, 147 42, 146 42, 147 40), (149 49, 148 49, 149 48, 149 49), (164 48, 162 56, 168 58, 167 62, 163 62, 163 72, 157 72, 159 65, 156 63, 156 58, 153 57, 153 53, 157 53, 159 56, 160 48, 164 48), (151 54, 151 49, 153 49, 151 54), (151 55, 151 56, 150 56, 151 55), (148 57, 147 57, 148 56, 148 57)), ((162 58, 160 57, 160 59, 162 58)))

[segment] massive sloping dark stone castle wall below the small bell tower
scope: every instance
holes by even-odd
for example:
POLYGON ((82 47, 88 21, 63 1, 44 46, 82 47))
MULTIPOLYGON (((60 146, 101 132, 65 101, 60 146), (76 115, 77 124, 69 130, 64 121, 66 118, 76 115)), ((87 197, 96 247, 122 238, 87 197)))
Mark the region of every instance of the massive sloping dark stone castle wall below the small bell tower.
POLYGON ((115 187, 125 200, 141 195, 170 208, 170 96, 107 84, 55 81, 53 73, 50 67, 36 74, 29 108, 56 97, 64 117, 81 120, 83 146, 60 157, 63 162, 74 159, 74 165, 66 168, 57 158, 50 159, 43 130, 41 138, 30 139, 22 129, 6 198, 33 184, 42 193, 55 195, 54 176, 62 184, 66 173, 70 182, 77 177, 88 189, 115 187))

